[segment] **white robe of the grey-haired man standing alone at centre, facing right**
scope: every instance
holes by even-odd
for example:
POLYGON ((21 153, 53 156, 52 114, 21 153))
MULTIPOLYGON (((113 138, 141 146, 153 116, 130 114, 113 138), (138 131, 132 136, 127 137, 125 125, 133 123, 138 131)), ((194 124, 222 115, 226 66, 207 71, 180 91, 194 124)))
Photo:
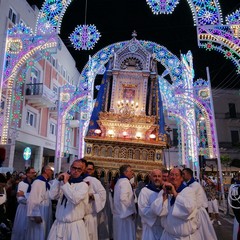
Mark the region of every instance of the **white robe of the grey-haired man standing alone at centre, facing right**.
POLYGON ((136 207, 132 186, 127 178, 118 179, 113 197, 113 239, 135 240, 136 207))

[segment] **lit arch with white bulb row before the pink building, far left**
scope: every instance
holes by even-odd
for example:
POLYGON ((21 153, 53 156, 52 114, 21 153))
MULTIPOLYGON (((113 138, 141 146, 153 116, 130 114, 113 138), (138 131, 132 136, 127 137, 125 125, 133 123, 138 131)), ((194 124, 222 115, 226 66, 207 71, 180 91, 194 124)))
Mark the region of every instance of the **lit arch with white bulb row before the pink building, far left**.
MULTIPOLYGON (((23 29, 23 26, 20 25, 21 30, 23 29)), ((14 29, 17 27, 15 26, 14 29)), ((8 52, 7 55, 10 57, 8 61, 8 66, 4 71, 4 77, 1 82, 1 92, 0 92, 0 97, 2 94, 2 88, 6 87, 8 90, 6 91, 6 104, 5 104, 5 114, 4 118, 1 122, 2 125, 2 138, 1 138, 1 143, 2 144, 7 144, 8 142, 8 135, 9 135, 9 124, 10 124, 10 119, 11 115, 13 115, 12 111, 12 105, 15 103, 13 100, 16 100, 20 97, 21 101, 22 96, 20 92, 15 93, 15 98, 13 99, 13 86, 15 85, 22 85, 25 82, 25 73, 28 70, 28 68, 24 68, 24 65, 28 62, 30 59, 34 59, 34 62, 39 61, 40 59, 44 57, 49 57, 50 56, 50 51, 56 48, 57 42, 55 41, 54 37, 48 37, 45 40, 39 41, 38 38, 33 38, 31 35, 27 36, 25 33, 19 33, 20 31, 13 31, 12 29, 9 30, 9 38, 7 39, 7 46, 11 46, 11 42, 19 42, 22 43, 24 46, 20 51, 18 52, 12 52, 10 47, 8 47, 8 52), (20 37, 20 36, 21 37, 20 37), (14 38, 14 36, 16 36, 14 38), (29 37, 32 39, 31 44, 26 44, 25 41, 29 41, 29 37), (21 69, 23 71, 21 72, 21 69), (21 73, 22 75, 21 79, 17 78, 17 75, 21 73)), ((40 38, 41 39, 41 38, 40 38)), ((28 42, 29 43, 29 42, 28 42)), ((32 66, 33 66, 32 65, 32 66)), ((20 90, 19 90, 20 91, 20 90)), ((21 102, 20 101, 20 102, 21 102)), ((18 103, 19 106, 20 103, 18 103)), ((20 119, 20 115, 17 116, 15 113, 15 117, 18 117, 18 120, 16 120, 15 125, 18 124, 18 121, 20 119)), ((17 126, 15 126, 17 127, 17 126)))

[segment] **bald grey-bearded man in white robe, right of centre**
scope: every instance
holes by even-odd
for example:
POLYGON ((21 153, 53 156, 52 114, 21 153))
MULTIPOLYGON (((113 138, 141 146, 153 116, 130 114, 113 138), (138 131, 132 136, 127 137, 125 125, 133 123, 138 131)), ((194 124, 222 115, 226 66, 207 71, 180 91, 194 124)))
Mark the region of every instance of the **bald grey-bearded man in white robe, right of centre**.
POLYGON ((150 183, 142 188, 138 197, 138 211, 142 221, 142 240, 160 240, 163 232, 161 218, 153 212, 151 204, 162 190, 162 172, 154 169, 150 183))

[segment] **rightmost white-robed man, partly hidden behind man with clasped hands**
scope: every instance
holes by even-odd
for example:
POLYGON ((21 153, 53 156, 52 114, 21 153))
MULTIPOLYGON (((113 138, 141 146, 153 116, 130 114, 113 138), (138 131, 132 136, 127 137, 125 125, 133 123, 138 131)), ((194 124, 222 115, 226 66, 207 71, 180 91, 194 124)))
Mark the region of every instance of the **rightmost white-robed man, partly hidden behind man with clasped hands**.
POLYGON ((182 170, 182 175, 186 185, 190 187, 196 194, 200 220, 199 232, 202 236, 202 239, 217 240, 215 230, 206 211, 206 208, 208 207, 208 199, 203 187, 197 181, 195 181, 192 169, 184 168, 182 170))

